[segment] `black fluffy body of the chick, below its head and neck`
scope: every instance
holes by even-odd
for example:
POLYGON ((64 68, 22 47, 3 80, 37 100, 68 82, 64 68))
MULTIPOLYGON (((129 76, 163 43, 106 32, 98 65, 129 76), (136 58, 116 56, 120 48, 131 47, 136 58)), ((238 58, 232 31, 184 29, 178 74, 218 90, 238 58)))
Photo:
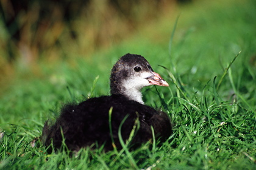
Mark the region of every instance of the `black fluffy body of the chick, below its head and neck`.
POLYGON ((62 127, 65 143, 72 151, 78 151, 80 148, 90 146, 95 142, 99 146, 105 144, 105 151, 112 150, 113 146, 108 123, 110 107, 113 107, 112 131, 117 149, 121 149, 118 139, 118 127, 126 115, 129 116, 124 122, 121 131, 124 141, 129 138, 137 117, 140 120, 140 129, 133 137, 133 144, 141 144, 150 140, 152 138, 151 126, 154 127, 156 137, 160 137, 162 141, 165 141, 172 133, 169 117, 164 112, 157 112, 152 107, 127 100, 122 95, 112 95, 91 98, 78 105, 66 105, 63 107, 60 117, 53 126, 49 126, 47 122, 44 124, 44 143, 49 146, 52 138, 54 147, 60 148, 62 145, 60 127, 62 127), (100 111, 96 112, 95 110, 100 111))

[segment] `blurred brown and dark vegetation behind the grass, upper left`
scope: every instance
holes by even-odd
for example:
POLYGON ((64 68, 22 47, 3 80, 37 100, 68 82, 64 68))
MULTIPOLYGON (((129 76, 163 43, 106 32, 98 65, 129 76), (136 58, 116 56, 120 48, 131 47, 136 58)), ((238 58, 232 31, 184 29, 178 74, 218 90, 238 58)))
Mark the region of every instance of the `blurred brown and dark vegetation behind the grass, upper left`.
MULTIPOLYGON (((0 78, 73 56, 90 57, 190 0, 1 0, 0 78), (17 66, 18 65, 18 66, 17 66)), ((173 18, 176 18, 174 15, 173 18)))

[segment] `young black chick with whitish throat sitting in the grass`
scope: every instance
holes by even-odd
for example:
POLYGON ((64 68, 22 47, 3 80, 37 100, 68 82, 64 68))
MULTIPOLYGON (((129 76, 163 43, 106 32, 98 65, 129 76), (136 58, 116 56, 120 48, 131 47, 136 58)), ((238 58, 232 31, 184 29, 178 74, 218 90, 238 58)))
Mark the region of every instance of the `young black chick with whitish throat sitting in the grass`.
MULTIPOLYGON (((165 141, 172 134, 168 115, 144 105, 142 101, 140 89, 152 84, 168 86, 143 56, 124 55, 111 72, 112 95, 90 98, 79 104, 66 104, 54 124, 49 124, 48 121, 44 124, 43 143, 49 146, 52 142, 54 148, 59 149, 64 137, 66 146, 71 151, 79 151, 80 148, 92 146, 94 143, 98 146, 104 144, 104 150, 110 151, 113 149, 113 139, 116 148, 121 149, 118 128, 124 118, 126 120, 121 126, 124 141, 129 138, 134 125, 138 127, 130 142, 131 146, 151 140, 151 126, 154 128, 155 137, 165 141), (136 120, 139 123, 136 124, 136 120)), ((92 147, 95 148, 96 145, 92 147)))

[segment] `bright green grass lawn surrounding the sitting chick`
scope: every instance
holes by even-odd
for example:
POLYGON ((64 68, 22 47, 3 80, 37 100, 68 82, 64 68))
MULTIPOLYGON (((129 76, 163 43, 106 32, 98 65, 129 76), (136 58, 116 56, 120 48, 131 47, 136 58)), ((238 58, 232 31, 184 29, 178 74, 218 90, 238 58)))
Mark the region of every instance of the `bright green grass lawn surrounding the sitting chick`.
POLYGON ((175 17, 166 15, 91 58, 18 70, 0 99, 0 168, 255 169, 255 5, 230 0, 181 7, 171 50, 175 17), (145 56, 171 85, 147 87, 143 94, 147 105, 168 112, 172 137, 155 148, 87 148, 72 157, 47 154, 39 141, 33 148, 44 121, 56 117, 63 103, 108 94, 110 69, 127 52, 145 56))

